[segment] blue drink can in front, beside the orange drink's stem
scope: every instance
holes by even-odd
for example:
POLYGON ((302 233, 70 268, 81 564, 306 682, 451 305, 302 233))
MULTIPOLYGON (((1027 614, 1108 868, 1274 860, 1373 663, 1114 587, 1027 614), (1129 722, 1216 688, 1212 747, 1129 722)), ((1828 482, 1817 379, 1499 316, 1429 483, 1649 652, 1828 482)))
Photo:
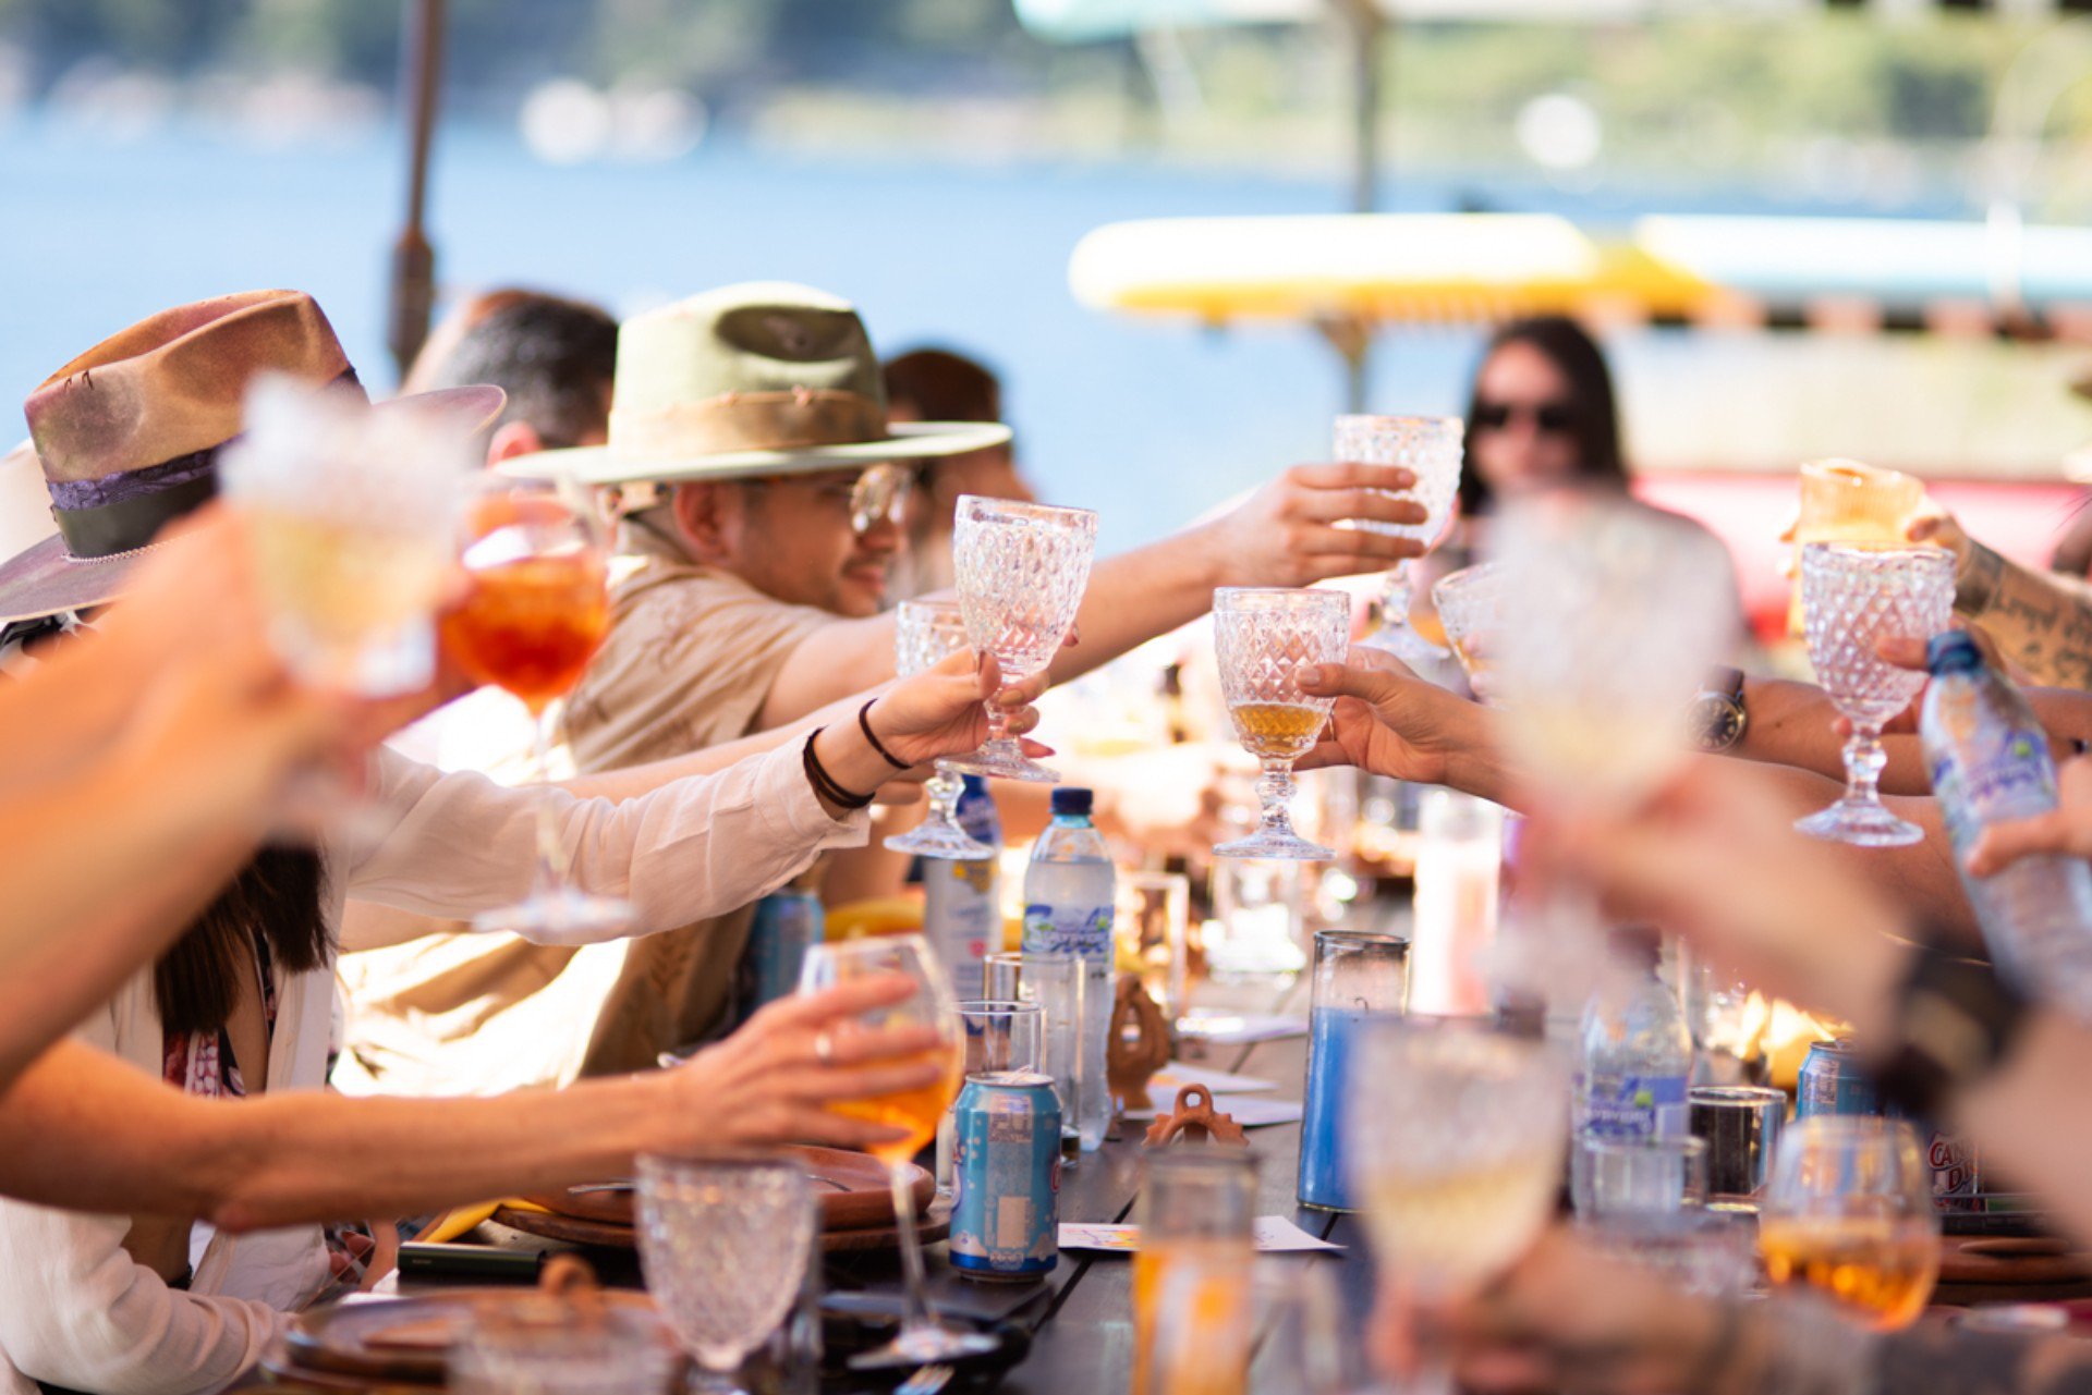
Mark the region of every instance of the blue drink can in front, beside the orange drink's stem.
POLYGON ((1027 1280, 1061 1259, 1061 1104, 1033 1071, 969 1075, 952 1119, 950 1263, 1027 1280))

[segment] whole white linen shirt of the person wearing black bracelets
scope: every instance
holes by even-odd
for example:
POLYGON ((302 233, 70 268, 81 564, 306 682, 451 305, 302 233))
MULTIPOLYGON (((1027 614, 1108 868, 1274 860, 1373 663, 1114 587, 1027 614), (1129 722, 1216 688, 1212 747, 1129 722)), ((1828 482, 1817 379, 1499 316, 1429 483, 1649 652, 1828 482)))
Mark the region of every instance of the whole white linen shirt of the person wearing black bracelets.
MULTIPOLYGON (((866 814, 828 818, 799 761, 789 742, 623 803, 552 791, 573 881, 632 901, 634 933, 646 935, 753 901, 824 849, 862 845, 866 814)), ((441 774, 385 749, 372 757, 372 784, 391 826, 368 851, 328 851, 331 929, 351 895, 469 918, 529 893, 536 801, 546 791, 441 774)), ((331 968, 282 977, 268 1094, 324 1088, 333 1006, 331 968)), ((157 1079, 153 973, 134 975, 75 1035, 157 1079)), ((287 1313, 328 1276, 318 1226, 215 1232, 182 1293, 132 1261, 128 1230, 128 1215, 0 1200, 0 1391, 36 1395, 36 1380, 107 1395, 218 1391, 262 1357, 287 1313)))

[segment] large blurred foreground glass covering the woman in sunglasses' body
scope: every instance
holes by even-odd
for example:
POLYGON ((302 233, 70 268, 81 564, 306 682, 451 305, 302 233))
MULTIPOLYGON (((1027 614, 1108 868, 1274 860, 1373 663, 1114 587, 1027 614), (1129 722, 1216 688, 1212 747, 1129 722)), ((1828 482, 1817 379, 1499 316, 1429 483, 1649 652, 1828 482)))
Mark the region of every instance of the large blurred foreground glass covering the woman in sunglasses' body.
MULTIPOLYGON (((1490 692, 1533 811, 1634 809, 1684 759, 1682 713, 1743 634, 1728 552, 1676 514, 1569 489, 1506 504, 1492 544, 1502 632, 1490 692)), ((1596 987, 1590 891, 1565 883, 1525 899, 1492 958, 1502 987, 1596 987)))

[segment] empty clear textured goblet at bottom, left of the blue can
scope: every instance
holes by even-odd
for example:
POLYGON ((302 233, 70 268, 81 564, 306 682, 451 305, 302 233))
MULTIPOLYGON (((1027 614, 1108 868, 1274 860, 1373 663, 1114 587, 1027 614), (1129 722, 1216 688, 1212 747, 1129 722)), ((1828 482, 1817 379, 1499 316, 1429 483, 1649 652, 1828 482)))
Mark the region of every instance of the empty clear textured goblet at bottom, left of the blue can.
POLYGON ((799 1299, 816 1226, 795 1161, 640 1157, 640 1270, 697 1389, 741 1393, 734 1370, 799 1299))

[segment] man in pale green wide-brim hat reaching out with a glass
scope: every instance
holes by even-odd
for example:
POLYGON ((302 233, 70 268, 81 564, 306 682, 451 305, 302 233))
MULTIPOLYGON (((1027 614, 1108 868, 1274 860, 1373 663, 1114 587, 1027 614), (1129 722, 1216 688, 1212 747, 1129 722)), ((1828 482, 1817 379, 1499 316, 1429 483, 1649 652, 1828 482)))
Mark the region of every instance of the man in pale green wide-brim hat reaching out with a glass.
MULTIPOLYGON (((793 724, 889 680, 902 462, 996 448, 1008 429, 891 420, 856 310, 757 282, 623 324, 607 437, 504 466, 611 487, 626 512, 615 625, 567 717, 582 770, 793 724)), ((1203 615, 1215 586, 1305 586, 1412 554, 1406 540, 1337 527, 1418 521, 1416 504, 1383 494, 1408 485, 1391 466, 1301 466, 1213 523, 1100 561, 1054 678, 1203 615)), ((885 874, 900 874, 891 857, 885 874)), ((521 1083, 517 1071, 649 1065, 718 1027, 751 914, 592 947, 554 979, 523 945, 429 937, 381 952, 385 968, 358 991, 354 1069, 387 1088, 485 1090, 521 1083), (584 958, 609 956, 623 960, 611 979, 605 964, 582 973, 584 958), (498 1054, 494 1039, 517 1050, 498 1054)))

